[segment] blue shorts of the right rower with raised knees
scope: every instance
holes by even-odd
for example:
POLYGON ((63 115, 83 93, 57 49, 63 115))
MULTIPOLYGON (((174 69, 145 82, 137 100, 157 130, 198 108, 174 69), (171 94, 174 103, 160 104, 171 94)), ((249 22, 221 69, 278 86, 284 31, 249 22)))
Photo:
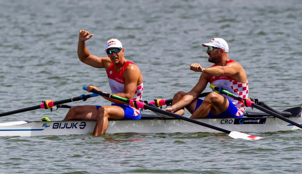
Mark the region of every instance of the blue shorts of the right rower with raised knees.
MULTIPOLYGON (((229 100, 229 107, 226 111, 222 112, 221 114, 215 116, 212 114, 212 111, 210 111, 210 113, 205 117, 205 118, 241 118, 243 117, 244 113, 240 116, 237 116, 237 112, 238 109, 237 107, 232 103, 232 101, 229 100)), ((201 100, 200 98, 197 98, 197 103, 196 103, 196 107, 195 110, 197 110, 197 108, 201 105, 201 103, 203 102, 203 100, 201 100)))

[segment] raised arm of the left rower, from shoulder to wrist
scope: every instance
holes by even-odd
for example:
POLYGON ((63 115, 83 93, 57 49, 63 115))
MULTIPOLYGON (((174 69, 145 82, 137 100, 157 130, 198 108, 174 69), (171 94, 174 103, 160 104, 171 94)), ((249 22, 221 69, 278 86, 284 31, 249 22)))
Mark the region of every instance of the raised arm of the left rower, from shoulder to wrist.
POLYGON ((78 42, 78 57, 81 62, 94 68, 108 68, 111 63, 109 57, 97 57, 90 54, 90 52, 86 48, 85 41, 80 40, 78 42))

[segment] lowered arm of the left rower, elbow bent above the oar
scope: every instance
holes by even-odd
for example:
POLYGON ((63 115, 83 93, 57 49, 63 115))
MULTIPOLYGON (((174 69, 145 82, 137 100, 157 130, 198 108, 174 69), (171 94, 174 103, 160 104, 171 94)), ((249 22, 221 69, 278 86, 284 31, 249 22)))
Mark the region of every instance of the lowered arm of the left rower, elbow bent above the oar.
MULTIPOLYGON (((114 95, 132 100, 140 76, 141 73, 139 68, 134 64, 129 64, 124 71, 124 78, 125 78, 124 93, 117 93, 114 95)), ((107 97, 104 98, 114 103, 126 104, 124 102, 120 102, 115 99, 111 99, 107 97)))

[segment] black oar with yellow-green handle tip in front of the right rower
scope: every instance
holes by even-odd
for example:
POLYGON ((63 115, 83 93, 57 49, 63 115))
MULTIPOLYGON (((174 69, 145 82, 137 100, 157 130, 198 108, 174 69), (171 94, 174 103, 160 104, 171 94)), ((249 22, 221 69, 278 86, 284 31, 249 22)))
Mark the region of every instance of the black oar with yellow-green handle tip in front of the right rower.
POLYGON ((243 99, 243 98, 241 98, 241 97, 239 97, 239 96, 237 96, 237 95, 235 95, 235 94, 233 94, 231 92, 228 92, 228 91, 226 91, 222 87, 215 87, 214 85, 210 85, 210 88, 215 89, 216 91, 218 91, 221 94, 230 96, 230 97, 232 97, 232 98, 234 98, 234 99, 236 99, 238 101, 241 101, 242 103, 244 103, 245 106, 257 108, 258 110, 260 110, 262 112, 265 112, 265 113, 267 113, 269 115, 272 115, 272 116, 274 116, 276 118, 279 118, 279 119, 281 119, 281 120, 283 120, 283 121, 285 121, 287 123, 293 124, 293 125, 297 126, 298 128, 302 129, 302 125, 300 125, 300 124, 298 124, 298 123, 296 123, 296 122, 294 122, 294 121, 292 121, 290 119, 287 119, 287 118, 285 118, 285 117, 283 117, 283 116, 281 116, 281 115, 279 115, 279 114, 277 114, 275 112, 272 112, 272 111, 270 111, 270 110, 268 110, 268 109, 266 109, 266 108, 264 108, 262 106, 259 106, 259 105, 257 105, 256 103, 254 103, 251 100, 243 99))

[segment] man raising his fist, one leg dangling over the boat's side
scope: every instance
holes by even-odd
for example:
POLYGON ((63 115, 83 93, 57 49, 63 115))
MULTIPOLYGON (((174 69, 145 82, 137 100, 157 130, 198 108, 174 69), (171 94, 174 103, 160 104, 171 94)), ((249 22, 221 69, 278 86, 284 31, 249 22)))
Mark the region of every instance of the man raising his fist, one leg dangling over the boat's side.
MULTIPOLYGON (((117 39, 108 40, 105 52, 108 57, 97 57, 87 50, 85 41, 90 39, 88 31, 80 30, 78 57, 81 62, 94 68, 105 68, 111 93, 129 100, 141 100, 143 95, 143 77, 139 67, 126 60, 125 49, 117 39)), ((96 86, 87 86, 87 91, 100 90, 96 86)), ((112 102, 111 106, 74 106, 69 109, 64 120, 97 120, 93 135, 104 134, 111 120, 139 120, 141 109, 126 105, 124 102, 104 97, 112 102)))

